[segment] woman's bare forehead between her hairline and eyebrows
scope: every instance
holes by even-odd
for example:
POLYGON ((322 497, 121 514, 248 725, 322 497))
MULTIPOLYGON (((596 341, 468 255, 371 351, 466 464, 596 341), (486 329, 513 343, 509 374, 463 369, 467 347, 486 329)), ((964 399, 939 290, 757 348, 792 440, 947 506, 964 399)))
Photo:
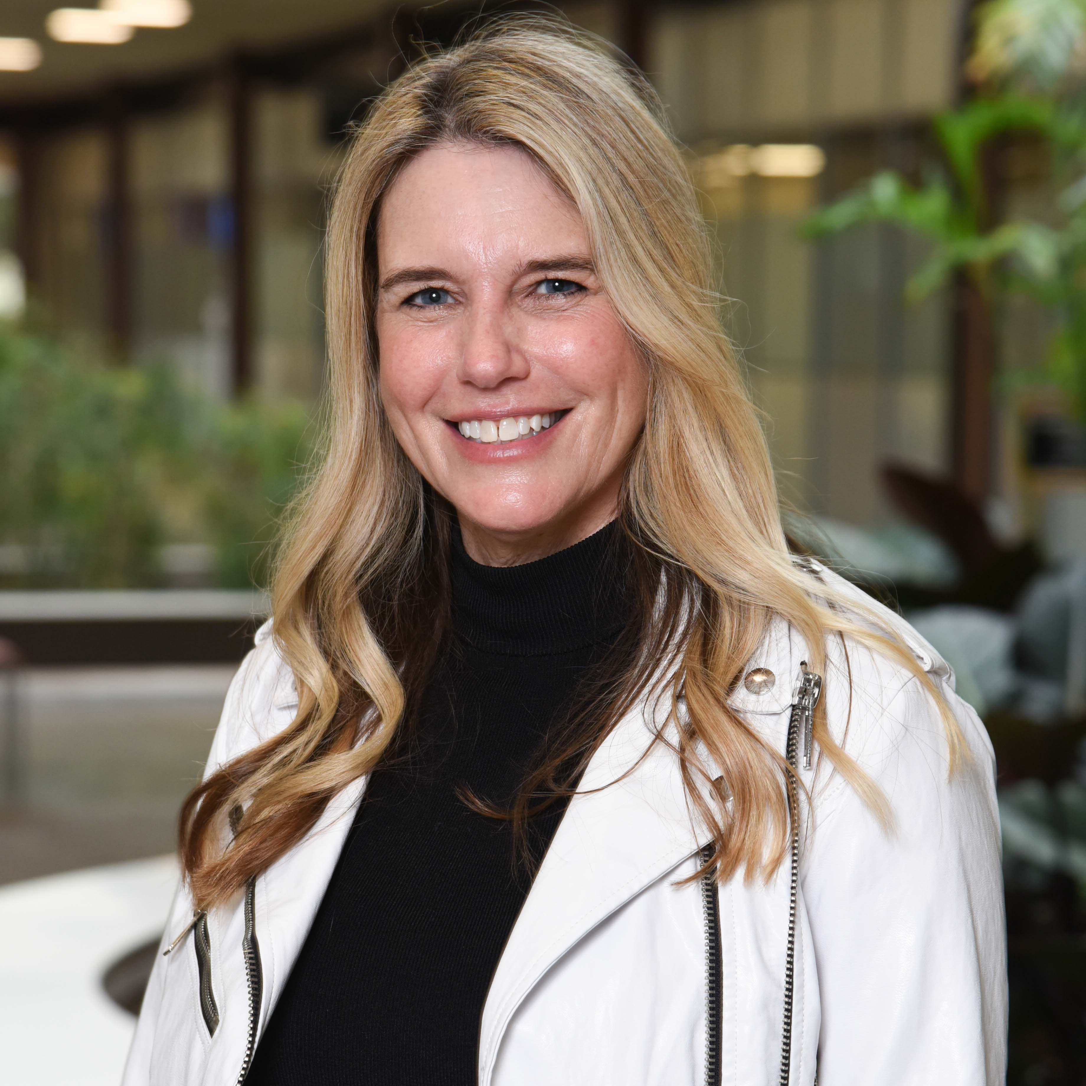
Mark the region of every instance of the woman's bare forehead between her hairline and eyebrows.
POLYGON ((377 248, 382 274, 588 255, 576 205, 527 151, 473 143, 428 148, 404 167, 381 202, 377 248))

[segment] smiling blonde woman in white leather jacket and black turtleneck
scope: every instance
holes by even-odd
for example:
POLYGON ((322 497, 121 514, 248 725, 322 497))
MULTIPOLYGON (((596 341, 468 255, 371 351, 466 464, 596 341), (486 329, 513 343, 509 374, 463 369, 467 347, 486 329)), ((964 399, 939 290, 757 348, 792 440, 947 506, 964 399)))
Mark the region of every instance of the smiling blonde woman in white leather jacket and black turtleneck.
POLYGON ((330 439, 125 1082, 987 1083, 993 757, 790 556, 649 87, 506 23, 372 106, 330 439))

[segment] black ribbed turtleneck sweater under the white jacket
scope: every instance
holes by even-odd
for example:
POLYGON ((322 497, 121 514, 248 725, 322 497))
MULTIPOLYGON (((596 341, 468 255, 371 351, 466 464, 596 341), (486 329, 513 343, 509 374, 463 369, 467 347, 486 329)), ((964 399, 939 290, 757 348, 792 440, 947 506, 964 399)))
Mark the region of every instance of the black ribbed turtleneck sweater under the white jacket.
MULTIPOLYGON (((453 546, 452 628, 374 772, 247 1086, 472 1086, 483 1002, 531 884, 506 803, 630 616, 617 528, 548 558, 453 546)), ((531 821, 536 858, 564 812, 531 821)))

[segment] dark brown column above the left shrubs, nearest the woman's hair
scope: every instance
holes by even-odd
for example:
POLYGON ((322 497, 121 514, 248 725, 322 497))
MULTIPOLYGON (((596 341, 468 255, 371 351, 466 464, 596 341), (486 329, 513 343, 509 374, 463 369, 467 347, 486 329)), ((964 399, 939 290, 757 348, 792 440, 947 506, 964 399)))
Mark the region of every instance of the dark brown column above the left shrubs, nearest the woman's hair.
POLYGON ((253 184, 252 98, 240 62, 229 77, 230 201, 233 207, 231 258, 231 348, 233 393, 241 395, 253 382, 253 184))

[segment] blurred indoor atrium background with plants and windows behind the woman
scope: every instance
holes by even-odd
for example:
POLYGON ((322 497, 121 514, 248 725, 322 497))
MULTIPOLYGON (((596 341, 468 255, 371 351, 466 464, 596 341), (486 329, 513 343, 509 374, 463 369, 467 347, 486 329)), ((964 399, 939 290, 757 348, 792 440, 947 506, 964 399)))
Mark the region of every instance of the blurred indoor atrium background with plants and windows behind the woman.
MULTIPOLYGON (((12 1086, 119 1075, 319 440, 350 125, 419 41, 532 10, 53 2, 0 8, 12 1086)), ((988 727, 1009 1081, 1086 1083, 1086 0, 557 7, 687 149, 797 546, 899 606, 988 727)))

